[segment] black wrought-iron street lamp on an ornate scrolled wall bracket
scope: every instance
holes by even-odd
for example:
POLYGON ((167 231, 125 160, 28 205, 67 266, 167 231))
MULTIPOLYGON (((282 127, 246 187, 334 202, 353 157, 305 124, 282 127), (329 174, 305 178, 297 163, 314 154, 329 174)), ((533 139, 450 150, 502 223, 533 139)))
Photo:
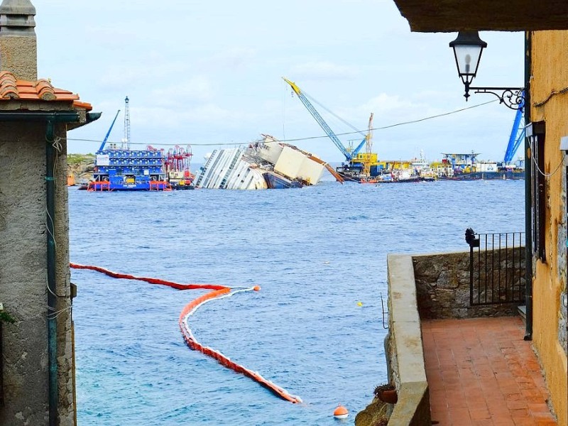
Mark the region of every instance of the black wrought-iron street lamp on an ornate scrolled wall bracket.
POLYGON ((461 81, 464 82, 466 92, 464 97, 469 98, 469 89, 475 93, 491 93, 499 98, 500 104, 505 104, 510 109, 523 108, 523 87, 471 87, 470 84, 477 75, 479 60, 487 43, 479 38, 477 31, 459 31, 457 38, 449 43, 454 49, 457 72, 461 81), (501 92, 501 93, 499 93, 501 92))

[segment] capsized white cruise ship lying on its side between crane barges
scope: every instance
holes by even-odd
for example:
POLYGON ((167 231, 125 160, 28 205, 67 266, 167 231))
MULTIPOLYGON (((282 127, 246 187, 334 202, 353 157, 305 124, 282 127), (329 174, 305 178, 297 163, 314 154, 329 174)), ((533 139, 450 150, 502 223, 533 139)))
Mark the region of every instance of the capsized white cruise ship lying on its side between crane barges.
POLYGON ((247 148, 215 150, 195 177, 196 188, 266 190, 315 185, 324 169, 341 176, 320 158, 270 135, 247 148))

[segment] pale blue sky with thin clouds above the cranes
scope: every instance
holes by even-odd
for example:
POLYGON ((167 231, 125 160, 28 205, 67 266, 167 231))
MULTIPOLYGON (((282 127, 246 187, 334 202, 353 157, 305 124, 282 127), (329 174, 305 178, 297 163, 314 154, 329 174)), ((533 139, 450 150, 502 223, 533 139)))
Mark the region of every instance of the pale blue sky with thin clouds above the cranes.
MULTIPOLYGON (((465 102, 448 45, 457 33, 411 33, 392 0, 31 1, 38 77, 102 112, 68 133, 69 153, 97 151, 119 109, 109 141, 120 143, 128 96, 133 149, 191 145, 202 163, 265 133, 344 160, 282 77, 315 99, 334 133, 352 131, 342 120, 365 133, 373 112, 379 158, 506 151, 515 111, 498 102, 378 129, 496 99, 465 102)), ((521 87, 523 33, 480 36, 488 47, 474 85, 521 87)), ((339 136, 345 146, 362 138, 339 136)))

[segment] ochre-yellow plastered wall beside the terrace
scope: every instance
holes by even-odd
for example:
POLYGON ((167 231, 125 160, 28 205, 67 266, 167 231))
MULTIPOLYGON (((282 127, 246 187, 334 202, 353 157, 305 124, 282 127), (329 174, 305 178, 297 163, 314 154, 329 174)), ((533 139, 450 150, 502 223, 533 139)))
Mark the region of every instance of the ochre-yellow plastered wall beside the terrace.
POLYGON ((560 295, 566 285, 566 263, 565 260, 560 261, 558 256, 564 256, 566 251, 566 195, 562 186, 566 175, 564 166, 559 166, 562 162, 559 143, 562 136, 568 136, 568 31, 532 33, 530 83, 531 121, 544 120, 546 126, 544 171, 554 173, 547 178, 547 263, 538 261, 533 271, 532 340, 545 369, 558 424, 568 425, 568 360, 558 339, 560 295), (567 92, 555 94, 545 102, 551 92, 562 89, 567 92), (545 103, 537 106, 542 102, 545 103), (560 239, 559 229, 562 235, 560 239))

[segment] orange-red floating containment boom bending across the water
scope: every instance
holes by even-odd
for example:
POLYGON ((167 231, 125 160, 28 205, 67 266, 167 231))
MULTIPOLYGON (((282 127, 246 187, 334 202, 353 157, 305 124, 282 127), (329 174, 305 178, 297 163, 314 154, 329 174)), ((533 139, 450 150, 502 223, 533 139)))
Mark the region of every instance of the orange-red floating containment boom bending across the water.
POLYGON ((263 378, 260 373, 257 371, 250 370, 244 366, 236 364, 235 362, 231 361, 228 356, 225 356, 220 351, 210 348, 209 346, 203 346, 200 342, 197 342, 195 336, 193 335, 189 324, 187 323, 187 319, 193 315, 193 313, 204 303, 210 302, 214 299, 222 299, 224 297, 231 297, 236 293, 241 293, 244 291, 258 291, 260 287, 255 285, 254 287, 250 288, 241 288, 239 290, 231 291, 230 287, 226 287, 224 285, 216 285, 216 284, 180 284, 175 283, 173 281, 168 280, 160 280, 158 278, 148 278, 148 277, 137 277, 135 275, 130 275, 126 273, 116 273, 113 271, 109 271, 108 269, 101 268, 100 266, 91 266, 91 265, 80 265, 79 263, 70 263, 71 268, 75 269, 89 269, 91 271, 97 271, 100 273, 104 273, 109 275, 112 278, 121 278, 126 280, 139 280, 145 281, 146 283, 151 284, 158 284, 158 285, 167 285, 171 288, 176 288, 178 290, 195 290, 195 289, 205 289, 211 290, 209 293, 201 295, 197 297, 197 299, 192 300, 183 308, 182 312, 180 313, 179 318, 179 325, 180 330, 182 332, 182 337, 185 340, 187 346, 194 351, 200 351, 202 354, 210 356, 213 359, 216 359, 219 364, 226 368, 231 368, 231 370, 235 371, 236 373, 241 373, 244 376, 247 376, 257 383, 259 383, 264 388, 268 389, 275 395, 279 396, 283 400, 290 401, 290 403, 301 403, 302 399, 299 396, 291 395, 288 391, 285 391, 284 388, 280 388, 280 386, 276 385, 275 383, 269 381, 266 378, 263 378))

